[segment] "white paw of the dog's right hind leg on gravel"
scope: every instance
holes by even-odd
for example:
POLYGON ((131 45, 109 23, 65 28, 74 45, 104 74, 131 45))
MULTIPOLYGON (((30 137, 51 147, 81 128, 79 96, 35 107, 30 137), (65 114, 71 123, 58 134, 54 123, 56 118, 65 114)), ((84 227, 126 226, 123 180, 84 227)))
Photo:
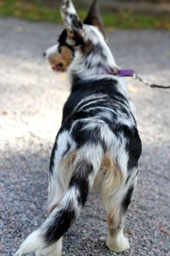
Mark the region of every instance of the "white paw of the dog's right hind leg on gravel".
POLYGON ((114 238, 108 236, 106 240, 106 246, 111 251, 116 253, 122 253, 130 248, 129 241, 123 234, 119 234, 114 238))

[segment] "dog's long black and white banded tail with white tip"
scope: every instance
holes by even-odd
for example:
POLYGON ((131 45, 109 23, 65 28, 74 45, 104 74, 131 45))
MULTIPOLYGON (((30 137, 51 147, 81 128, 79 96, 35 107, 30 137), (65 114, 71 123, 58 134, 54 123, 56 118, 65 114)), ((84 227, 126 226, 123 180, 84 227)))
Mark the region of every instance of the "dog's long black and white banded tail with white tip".
POLYGON ((81 160, 74 167, 74 171, 64 197, 54 208, 53 212, 42 226, 26 238, 14 256, 33 253, 58 241, 79 217, 82 207, 93 186, 98 171, 87 160, 81 160))

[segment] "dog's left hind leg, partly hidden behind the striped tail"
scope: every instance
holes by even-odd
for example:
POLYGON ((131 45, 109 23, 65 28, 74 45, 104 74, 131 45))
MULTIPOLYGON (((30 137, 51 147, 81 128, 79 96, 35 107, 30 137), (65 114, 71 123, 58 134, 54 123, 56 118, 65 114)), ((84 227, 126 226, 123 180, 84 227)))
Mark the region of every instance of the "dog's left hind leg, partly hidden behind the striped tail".
MULTIPOLYGON (((60 137, 58 138, 58 142, 54 144, 50 160, 48 177, 48 214, 54 211, 58 206, 59 201, 65 195, 65 190, 68 187, 72 173, 72 161, 75 156, 74 150, 71 150, 70 152, 71 148, 68 147, 68 142, 64 142, 65 137, 62 134, 60 137)), ((61 256, 61 251, 62 237, 53 245, 38 250, 36 256, 61 256)))

